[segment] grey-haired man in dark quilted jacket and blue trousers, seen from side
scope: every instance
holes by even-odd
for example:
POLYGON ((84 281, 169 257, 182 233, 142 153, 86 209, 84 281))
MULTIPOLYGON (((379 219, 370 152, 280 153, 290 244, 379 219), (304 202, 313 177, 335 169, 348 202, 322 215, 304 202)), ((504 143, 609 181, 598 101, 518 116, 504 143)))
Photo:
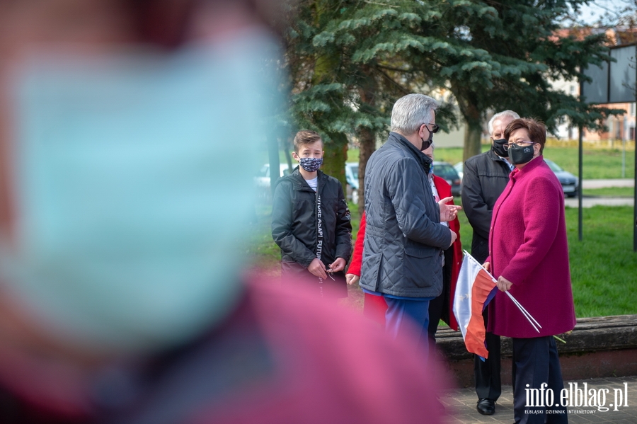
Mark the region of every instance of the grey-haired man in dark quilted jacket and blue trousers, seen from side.
POLYGON ((444 204, 451 197, 437 204, 427 180, 432 160, 421 150, 438 130, 436 108, 436 101, 423 94, 398 99, 389 139, 369 158, 365 176, 367 232, 360 285, 385 298, 386 331, 411 337, 423 355, 429 302, 442 292, 442 250, 456 239, 440 220, 454 219, 459 209, 444 204))

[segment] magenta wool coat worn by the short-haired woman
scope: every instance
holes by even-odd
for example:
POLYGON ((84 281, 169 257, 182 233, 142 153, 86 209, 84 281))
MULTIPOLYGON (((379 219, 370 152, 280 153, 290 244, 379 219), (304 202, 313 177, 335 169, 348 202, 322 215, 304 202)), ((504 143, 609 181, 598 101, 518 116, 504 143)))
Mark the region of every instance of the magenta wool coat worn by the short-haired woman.
POLYGON ((489 331, 532 338, 573 330, 564 193, 539 156, 515 169, 495 202, 489 233, 490 271, 513 283, 510 294, 541 325, 539 333, 512 300, 500 292, 489 307, 489 331))

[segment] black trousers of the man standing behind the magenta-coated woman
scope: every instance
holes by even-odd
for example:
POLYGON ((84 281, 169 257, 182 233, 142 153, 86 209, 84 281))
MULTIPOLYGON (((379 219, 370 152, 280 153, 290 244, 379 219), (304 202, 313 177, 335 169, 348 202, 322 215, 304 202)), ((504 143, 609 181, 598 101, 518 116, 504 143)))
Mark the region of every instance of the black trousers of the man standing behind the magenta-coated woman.
MULTIPOLYGON (((488 307, 483 311, 484 327, 488 321, 488 307)), ((489 357, 481 360, 474 355, 474 376, 476 377, 476 394, 478 399, 491 399, 497 401, 502 394, 500 382, 500 336, 486 333, 486 345, 489 357)))

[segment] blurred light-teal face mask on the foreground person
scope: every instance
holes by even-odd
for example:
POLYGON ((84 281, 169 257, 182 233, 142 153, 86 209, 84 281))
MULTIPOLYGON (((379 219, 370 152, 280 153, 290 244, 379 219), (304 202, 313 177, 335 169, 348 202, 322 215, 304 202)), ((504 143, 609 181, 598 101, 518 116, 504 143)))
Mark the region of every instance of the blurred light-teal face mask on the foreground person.
POLYGON ((236 164, 257 168, 236 143, 265 144, 277 108, 265 39, 170 56, 39 55, 17 74, 18 219, 13 242, 0 241, 0 281, 55 337, 103 352, 165 348, 234 307, 254 214, 251 173, 236 164), (258 138, 238 139, 246 122, 258 138))

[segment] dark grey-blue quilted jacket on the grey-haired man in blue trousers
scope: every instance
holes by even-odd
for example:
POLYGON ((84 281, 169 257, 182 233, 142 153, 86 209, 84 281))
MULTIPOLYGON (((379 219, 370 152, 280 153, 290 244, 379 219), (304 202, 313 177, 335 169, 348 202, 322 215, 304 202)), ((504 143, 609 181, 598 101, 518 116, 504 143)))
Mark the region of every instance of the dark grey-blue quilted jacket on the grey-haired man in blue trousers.
POLYGON ((401 297, 442 292, 442 249, 451 233, 427 181, 431 159, 396 132, 365 170, 365 248, 360 285, 401 297))

